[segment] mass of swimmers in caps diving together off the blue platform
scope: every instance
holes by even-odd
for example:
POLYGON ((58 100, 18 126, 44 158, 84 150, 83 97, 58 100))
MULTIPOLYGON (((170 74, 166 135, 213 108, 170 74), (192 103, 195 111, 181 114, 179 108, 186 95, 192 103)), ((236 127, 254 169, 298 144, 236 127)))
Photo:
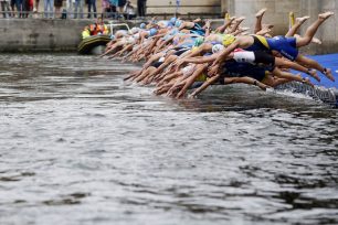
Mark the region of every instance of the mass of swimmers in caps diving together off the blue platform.
POLYGON ((320 44, 315 34, 332 12, 325 12, 297 34, 309 17, 297 18, 285 35, 273 36, 273 24, 263 24, 266 9, 255 14, 253 33, 241 26, 245 18, 229 18, 211 29, 211 21, 183 21, 172 18, 140 24, 129 32, 117 31, 103 55, 123 62, 144 62, 140 69, 125 81, 155 85, 156 95, 175 98, 194 97, 209 85, 244 83, 265 90, 288 82, 313 86, 307 74, 320 82, 318 73, 335 82, 330 68, 299 53, 311 42, 320 44), (297 73, 294 73, 296 71, 297 73))

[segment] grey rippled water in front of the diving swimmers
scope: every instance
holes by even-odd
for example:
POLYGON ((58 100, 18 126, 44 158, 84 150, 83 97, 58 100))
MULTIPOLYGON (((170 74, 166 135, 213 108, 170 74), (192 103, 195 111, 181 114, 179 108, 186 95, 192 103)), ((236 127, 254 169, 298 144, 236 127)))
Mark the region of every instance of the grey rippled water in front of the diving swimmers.
POLYGON ((0 224, 337 224, 338 111, 244 85, 198 99, 91 56, 0 55, 0 224))

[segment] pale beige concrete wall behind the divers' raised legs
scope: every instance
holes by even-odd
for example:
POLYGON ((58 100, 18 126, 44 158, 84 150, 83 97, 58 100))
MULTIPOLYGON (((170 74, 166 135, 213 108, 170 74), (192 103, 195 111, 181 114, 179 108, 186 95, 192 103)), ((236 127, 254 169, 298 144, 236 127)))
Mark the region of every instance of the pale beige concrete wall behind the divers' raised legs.
POLYGON ((338 52, 338 0, 221 0, 222 11, 231 15, 245 15, 245 26, 253 28, 255 13, 266 8, 263 23, 274 24, 274 34, 285 34, 288 30, 288 13, 296 17, 309 15, 310 19, 302 26, 299 34, 317 19, 318 14, 326 11, 335 12, 316 33, 323 41, 321 45, 310 44, 302 51, 308 54, 328 54, 338 52))

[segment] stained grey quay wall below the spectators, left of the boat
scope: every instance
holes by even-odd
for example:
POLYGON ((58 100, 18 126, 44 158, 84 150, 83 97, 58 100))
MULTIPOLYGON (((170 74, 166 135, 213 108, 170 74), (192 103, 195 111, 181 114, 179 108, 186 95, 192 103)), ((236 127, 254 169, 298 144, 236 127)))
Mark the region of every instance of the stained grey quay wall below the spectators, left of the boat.
MULTIPOLYGON (((93 22, 93 20, 3 19, 0 20, 0 52, 74 52, 81 42, 81 31, 93 22)), ((133 26, 133 23, 129 25, 133 26)))

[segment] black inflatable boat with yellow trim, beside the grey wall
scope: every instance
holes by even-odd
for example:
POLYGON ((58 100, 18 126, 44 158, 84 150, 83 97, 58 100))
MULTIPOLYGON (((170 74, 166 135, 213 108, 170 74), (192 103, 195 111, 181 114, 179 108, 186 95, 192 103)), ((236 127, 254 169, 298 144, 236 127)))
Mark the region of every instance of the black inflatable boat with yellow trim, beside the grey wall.
POLYGON ((85 38, 78 44, 77 52, 80 54, 94 54, 94 55, 103 54, 106 49, 106 44, 109 41, 110 36, 106 34, 98 34, 85 38))

